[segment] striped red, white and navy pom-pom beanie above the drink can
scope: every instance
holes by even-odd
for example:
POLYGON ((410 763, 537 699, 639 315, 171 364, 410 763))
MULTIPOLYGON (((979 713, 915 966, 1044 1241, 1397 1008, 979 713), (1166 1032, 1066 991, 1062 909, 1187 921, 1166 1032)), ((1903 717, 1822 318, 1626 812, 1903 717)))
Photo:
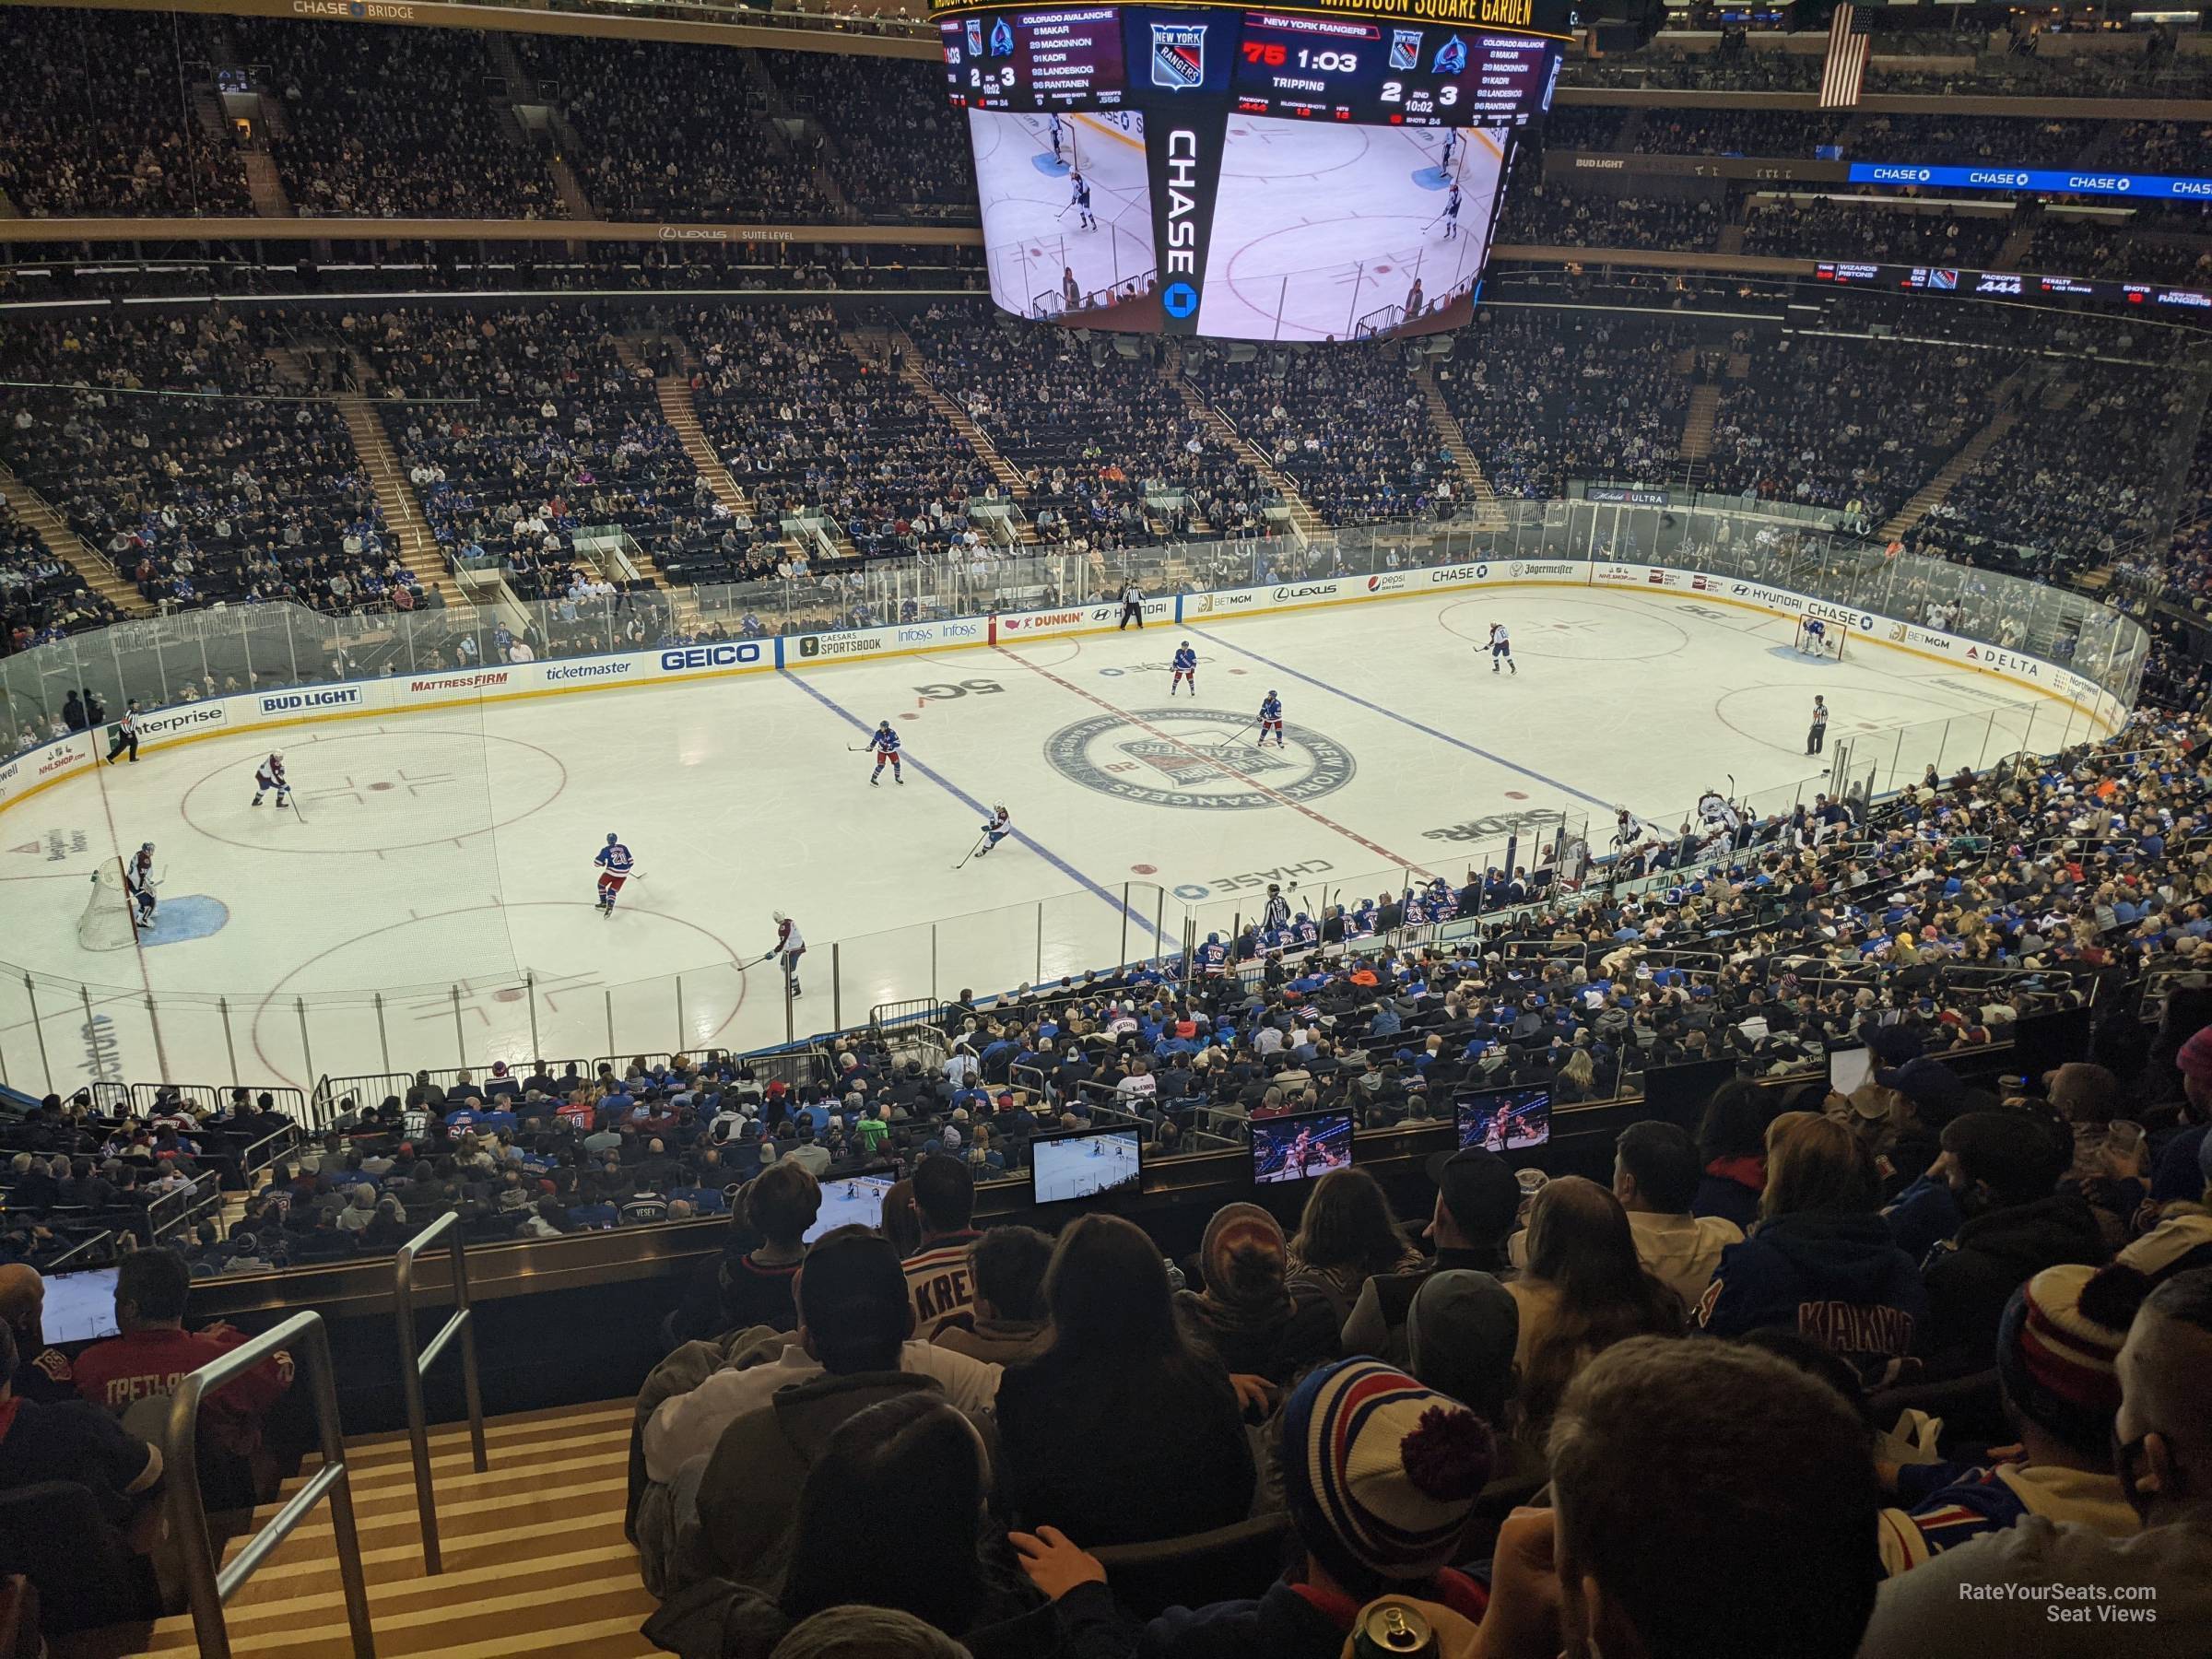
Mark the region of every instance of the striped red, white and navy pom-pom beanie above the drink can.
POLYGON ((1491 1455, 1482 1418, 1378 1360, 1307 1374, 1283 1409, 1290 1515, 1347 1588, 1449 1566, 1491 1455))

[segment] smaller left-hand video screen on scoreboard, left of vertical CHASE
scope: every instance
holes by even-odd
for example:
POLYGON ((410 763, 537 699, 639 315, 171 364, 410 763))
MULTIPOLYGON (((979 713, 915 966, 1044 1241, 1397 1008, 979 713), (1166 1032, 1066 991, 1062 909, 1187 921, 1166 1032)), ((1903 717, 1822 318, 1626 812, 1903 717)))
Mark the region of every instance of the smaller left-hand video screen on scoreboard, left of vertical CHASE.
POLYGON ((993 301, 1018 316, 1060 316, 1071 276, 1086 301, 1128 283, 1144 292, 1157 265, 1144 115, 1062 115, 1055 157, 1051 115, 971 108, 969 142, 993 301), (1077 168, 1091 186, 1093 230, 1071 206, 1077 168))

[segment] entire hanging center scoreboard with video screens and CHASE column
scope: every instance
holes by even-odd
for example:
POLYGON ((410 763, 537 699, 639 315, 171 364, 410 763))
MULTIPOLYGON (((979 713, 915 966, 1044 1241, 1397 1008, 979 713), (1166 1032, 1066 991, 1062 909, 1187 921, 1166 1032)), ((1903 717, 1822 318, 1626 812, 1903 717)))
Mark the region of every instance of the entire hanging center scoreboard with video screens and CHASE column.
POLYGON ((1575 0, 942 0, 936 20, 1004 310, 1354 341, 1473 314, 1575 0))

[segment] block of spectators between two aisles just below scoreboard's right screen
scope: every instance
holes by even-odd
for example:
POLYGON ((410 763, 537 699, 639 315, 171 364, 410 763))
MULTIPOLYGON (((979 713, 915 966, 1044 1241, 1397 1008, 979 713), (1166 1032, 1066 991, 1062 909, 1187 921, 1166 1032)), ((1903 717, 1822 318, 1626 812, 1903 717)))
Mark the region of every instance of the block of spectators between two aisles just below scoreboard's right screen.
POLYGON ((1371 347, 1183 358, 1208 403, 1325 524, 1451 518, 1458 484, 1407 363, 1371 347))

